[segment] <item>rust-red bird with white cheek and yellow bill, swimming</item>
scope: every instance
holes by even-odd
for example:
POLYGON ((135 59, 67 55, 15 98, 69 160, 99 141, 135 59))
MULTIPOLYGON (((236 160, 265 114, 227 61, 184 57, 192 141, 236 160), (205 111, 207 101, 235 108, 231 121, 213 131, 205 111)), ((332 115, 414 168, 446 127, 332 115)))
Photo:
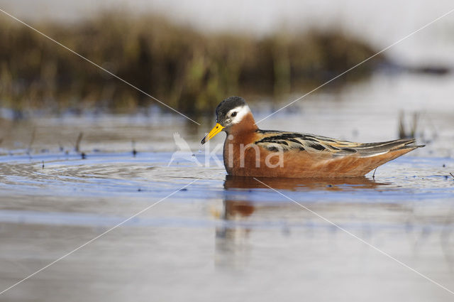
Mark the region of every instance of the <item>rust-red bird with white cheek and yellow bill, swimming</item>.
POLYGON ((223 162, 230 176, 280 178, 362 177, 378 166, 424 145, 415 139, 355 143, 326 136, 262 130, 242 97, 216 107, 216 126, 201 144, 226 132, 223 162))

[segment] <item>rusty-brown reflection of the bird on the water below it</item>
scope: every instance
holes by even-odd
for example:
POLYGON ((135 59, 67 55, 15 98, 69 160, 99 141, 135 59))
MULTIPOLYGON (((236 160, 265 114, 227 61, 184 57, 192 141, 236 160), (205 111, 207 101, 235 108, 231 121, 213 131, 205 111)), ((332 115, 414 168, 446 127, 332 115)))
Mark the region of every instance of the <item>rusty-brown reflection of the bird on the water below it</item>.
MULTIPOLYGON (((267 205, 260 204, 260 207, 256 207, 254 203, 257 203, 255 194, 257 190, 255 189, 271 190, 270 188, 273 188, 275 190, 297 192, 314 190, 351 191, 376 189, 382 185, 387 185, 387 183, 377 183, 366 177, 342 179, 257 178, 256 180, 251 177, 226 176, 223 209, 220 214, 221 220, 225 223, 222 227, 216 228, 216 264, 228 267, 243 266, 248 261, 250 223, 257 221, 254 219, 257 217, 260 220, 261 211, 269 210, 270 207, 284 206, 269 205, 268 203, 267 205)), ((267 212, 269 214, 269 211, 267 212)), ((282 231, 288 232, 287 228, 282 231)))

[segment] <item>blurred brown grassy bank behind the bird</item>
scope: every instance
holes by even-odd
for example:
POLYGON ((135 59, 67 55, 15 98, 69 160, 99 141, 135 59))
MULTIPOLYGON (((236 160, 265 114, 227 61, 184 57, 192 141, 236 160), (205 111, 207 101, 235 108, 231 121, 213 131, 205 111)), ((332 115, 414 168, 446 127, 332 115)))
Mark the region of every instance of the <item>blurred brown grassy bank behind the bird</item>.
MULTIPOLYGON (((153 104, 30 28, 7 18, 0 18, 0 26, 1 107, 20 116, 27 109, 131 112, 153 104)), ((33 26, 187 114, 212 112, 229 95, 279 98, 301 92, 375 53, 341 31, 261 38, 207 34, 160 16, 116 11, 76 23, 33 26)), ((382 60, 377 56, 352 75, 365 77, 382 60)))

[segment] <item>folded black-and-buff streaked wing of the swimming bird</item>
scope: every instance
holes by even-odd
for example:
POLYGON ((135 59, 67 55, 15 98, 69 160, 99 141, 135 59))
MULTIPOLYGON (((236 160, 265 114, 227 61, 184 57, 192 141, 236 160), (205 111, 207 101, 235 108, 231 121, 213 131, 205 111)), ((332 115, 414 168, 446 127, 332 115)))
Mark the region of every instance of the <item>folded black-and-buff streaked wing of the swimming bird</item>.
POLYGON ((254 144, 269 151, 307 151, 326 156, 355 155, 360 157, 376 156, 397 149, 413 148, 414 146, 407 146, 412 143, 414 143, 414 139, 362 144, 314 134, 267 130, 259 130, 258 139, 254 142, 254 144))

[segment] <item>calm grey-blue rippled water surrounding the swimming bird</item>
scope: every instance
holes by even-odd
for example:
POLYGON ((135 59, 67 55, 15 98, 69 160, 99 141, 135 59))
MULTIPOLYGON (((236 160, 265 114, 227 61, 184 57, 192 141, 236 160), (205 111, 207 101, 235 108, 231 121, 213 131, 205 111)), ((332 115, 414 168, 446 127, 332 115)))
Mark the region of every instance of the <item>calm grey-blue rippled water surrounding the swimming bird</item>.
MULTIPOLYGON (((377 141, 396 138, 400 109, 407 120, 421 114, 427 146, 375 179, 260 178, 283 195, 229 178, 197 152, 214 119, 201 127, 170 114, 2 120, 0 291, 149 209, 0 301, 452 301, 326 221, 454 289, 453 79, 436 79, 377 75, 260 124, 377 141), (203 166, 167 166, 175 131, 203 166), (79 132, 85 159, 74 151, 79 132)), ((260 119, 272 105, 250 107, 260 119)))

